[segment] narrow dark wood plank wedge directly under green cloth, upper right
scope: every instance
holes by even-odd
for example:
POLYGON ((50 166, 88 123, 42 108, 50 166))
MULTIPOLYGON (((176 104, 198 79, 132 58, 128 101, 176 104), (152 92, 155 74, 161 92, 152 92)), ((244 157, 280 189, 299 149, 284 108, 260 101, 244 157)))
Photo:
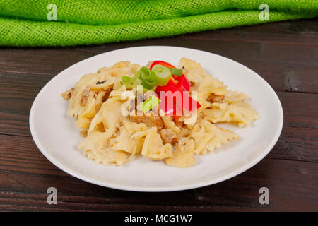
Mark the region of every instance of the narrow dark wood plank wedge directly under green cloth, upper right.
POLYGON ((264 23, 257 26, 184 35, 193 40, 227 40, 285 45, 318 46, 318 19, 264 23), (225 35, 226 34, 226 35, 225 35))

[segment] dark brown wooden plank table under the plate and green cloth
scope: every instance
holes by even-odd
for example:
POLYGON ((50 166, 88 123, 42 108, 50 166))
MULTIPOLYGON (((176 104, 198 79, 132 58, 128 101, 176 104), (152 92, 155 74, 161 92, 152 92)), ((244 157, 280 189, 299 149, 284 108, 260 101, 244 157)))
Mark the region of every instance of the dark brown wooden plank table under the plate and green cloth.
MULTIPOLYGON (((0 48, 0 210, 318 210, 318 20, 66 48, 0 48), (259 73, 284 111, 281 137, 252 169, 189 191, 139 193, 96 186, 52 165, 33 142, 28 116, 40 89, 68 66, 142 45, 202 49, 259 73), (47 204, 47 188, 58 191, 47 204), (269 188, 269 205, 259 189, 269 188)), ((269 124, 271 122, 269 121, 269 124)))

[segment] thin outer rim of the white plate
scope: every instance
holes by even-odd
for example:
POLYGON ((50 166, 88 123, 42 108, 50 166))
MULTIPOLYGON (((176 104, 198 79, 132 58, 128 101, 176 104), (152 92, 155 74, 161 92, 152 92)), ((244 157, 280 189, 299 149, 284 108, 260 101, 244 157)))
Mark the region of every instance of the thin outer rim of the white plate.
POLYGON ((220 182, 223 182, 227 179, 230 179, 232 177, 236 177, 239 174, 242 174, 243 172, 247 171, 247 169, 250 169, 252 167, 254 167, 254 165, 257 165, 258 162, 260 162, 264 157, 266 157, 266 155, 269 154, 269 152, 273 149, 273 146, 277 143, 278 138, 281 136, 281 131, 283 129, 283 107, 281 105, 281 101, 279 100, 278 95, 276 94, 275 90, 273 90, 273 88, 271 87, 271 85, 269 85, 269 83, 267 83, 267 81, 262 78, 258 73, 256 73, 255 71, 253 71, 252 69, 249 69, 247 66, 245 66, 244 64, 241 64, 235 60, 232 60, 228 57, 223 57, 219 54, 215 54, 212 52, 207 52, 204 50, 200 50, 200 49, 193 49, 193 48, 187 48, 187 47, 177 47, 177 46, 167 46, 167 45, 146 45, 146 46, 139 46, 139 47, 127 47, 127 48, 119 48, 119 49, 114 49, 108 52, 102 52, 100 54, 96 54, 92 57, 88 57, 86 59, 83 59, 81 61, 76 62, 75 64, 72 64, 71 66, 67 67, 66 69, 64 69, 63 71, 57 73, 57 75, 55 75, 53 78, 51 78, 39 91, 39 93, 37 93, 37 96, 35 97, 35 100, 33 101, 33 104, 30 108, 30 114, 29 114, 29 126, 30 126, 30 132, 31 132, 31 136, 33 138, 33 141, 35 142, 35 145, 37 145, 37 148, 40 150, 40 152, 42 153, 42 155, 44 155, 47 160, 49 160, 49 162, 51 162, 53 165, 55 165, 56 167, 58 167, 59 169, 61 169, 62 171, 66 172, 67 174, 70 174, 73 177, 76 177, 78 179, 83 180, 84 182, 88 182, 91 184, 96 184, 99 186, 104 186, 107 188, 111 188, 111 189, 119 189, 119 190, 124 190, 124 191, 143 191, 143 192, 167 192, 167 191, 184 191, 184 190, 188 190, 188 189, 196 189, 199 187, 204 187, 204 186, 209 186, 212 184, 218 184, 220 182), (54 81, 54 79, 57 79, 57 77, 61 74, 64 73, 64 71, 73 68, 75 66, 77 66, 78 64, 81 64, 83 61, 88 61, 89 59, 92 59, 93 57, 98 57, 102 54, 111 54, 112 52, 116 52, 119 50, 131 50, 131 49, 147 49, 147 48, 152 48, 152 47, 162 47, 162 48, 176 48, 176 49, 190 49, 190 50, 195 50, 196 52, 203 52, 203 53, 208 53, 208 54, 213 54, 216 55, 218 57, 227 59, 229 61, 233 61, 236 64, 239 64, 240 66, 244 67, 245 69, 247 69, 248 71, 254 73, 254 76, 257 76, 266 86, 267 88, 269 88, 269 90, 271 90, 271 92, 273 93, 273 97, 275 97, 275 102, 276 105, 278 106, 278 112, 279 112, 279 117, 278 117, 278 129, 276 130, 275 135, 273 136, 271 142, 266 145, 266 148, 264 148, 264 150, 261 152, 260 155, 257 155, 257 157, 255 157, 254 159, 252 159, 252 161, 248 162, 248 164, 243 165, 242 167, 239 167, 238 169, 235 169, 234 171, 223 175, 222 177, 218 177, 217 179, 211 179, 211 180, 206 180, 204 182, 196 182, 196 183, 192 183, 192 184, 187 184, 187 185, 180 185, 180 186, 167 186, 167 187, 153 187, 153 186, 126 186, 126 185, 120 185, 120 184, 116 184, 116 183, 112 183, 112 182, 105 182, 105 181, 101 181, 98 179, 92 179, 92 178, 88 178, 86 176, 81 175, 78 172, 74 172, 72 169, 68 169, 68 167, 66 167, 64 164, 62 164, 61 162, 59 162, 58 160, 56 160, 54 157, 52 157, 51 155, 49 155, 49 153, 47 153, 47 151, 45 150, 45 148, 41 145, 39 138, 36 136, 35 133, 35 126, 33 124, 34 121, 34 111, 35 111, 35 105, 37 103, 37 98, 42 95, 42 93, 44 92, 45 88, 47 88, 47 86, 49 86, 50 83, 52 83, 52 81, 54 81))

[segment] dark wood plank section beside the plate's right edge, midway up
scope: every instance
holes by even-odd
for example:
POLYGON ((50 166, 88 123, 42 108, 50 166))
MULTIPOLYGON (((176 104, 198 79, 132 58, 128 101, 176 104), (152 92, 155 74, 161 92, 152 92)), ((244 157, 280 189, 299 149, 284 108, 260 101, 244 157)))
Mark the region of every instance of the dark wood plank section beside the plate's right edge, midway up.
POLYGON ((278 92, 278 97, 283 131, 269 157, 318 162, 318 95, 278 92))

